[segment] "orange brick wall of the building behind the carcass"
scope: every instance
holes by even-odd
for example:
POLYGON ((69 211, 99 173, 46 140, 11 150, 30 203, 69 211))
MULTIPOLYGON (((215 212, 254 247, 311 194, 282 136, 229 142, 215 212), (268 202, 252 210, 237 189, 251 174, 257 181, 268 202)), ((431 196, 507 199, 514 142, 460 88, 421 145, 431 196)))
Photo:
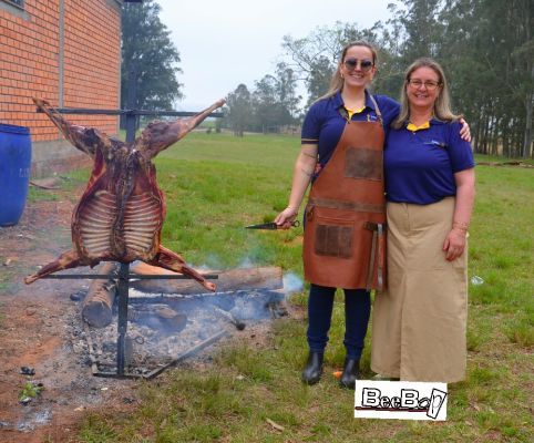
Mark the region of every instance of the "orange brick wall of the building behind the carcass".
MULTIPOLYGON (((121 14, 114 0, 0 0, 0 123, 29 126, 33 172, 44 175, 80 164, 32 96, 53 106, 119 109, 121 14)), ((65 115, 114 135, 116 116, 65 115)))

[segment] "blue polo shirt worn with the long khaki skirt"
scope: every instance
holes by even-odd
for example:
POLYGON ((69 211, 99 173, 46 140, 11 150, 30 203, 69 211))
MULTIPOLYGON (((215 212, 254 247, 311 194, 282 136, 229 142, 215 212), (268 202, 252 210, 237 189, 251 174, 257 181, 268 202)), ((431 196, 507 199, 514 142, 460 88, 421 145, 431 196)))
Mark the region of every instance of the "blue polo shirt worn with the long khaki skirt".
POLYGON ((390 128, 384 147, 389 202, 428 205, 456 195, 454 174, 474 167, 459 122, 430 121, 425 130, 390 128))

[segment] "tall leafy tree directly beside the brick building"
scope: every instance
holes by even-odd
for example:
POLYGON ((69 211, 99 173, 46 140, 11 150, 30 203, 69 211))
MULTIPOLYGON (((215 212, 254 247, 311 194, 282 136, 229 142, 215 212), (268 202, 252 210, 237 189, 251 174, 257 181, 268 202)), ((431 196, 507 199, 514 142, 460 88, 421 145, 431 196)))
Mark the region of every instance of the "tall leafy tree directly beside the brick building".
POLYGON ((125 3, 122 12, 121 106, 126 106, 127 79, 136 70, 138 109, 168 110, 182 97, 176 80, 179 53, 171 31, 160 20, 161 8, 154 0, 125 3))

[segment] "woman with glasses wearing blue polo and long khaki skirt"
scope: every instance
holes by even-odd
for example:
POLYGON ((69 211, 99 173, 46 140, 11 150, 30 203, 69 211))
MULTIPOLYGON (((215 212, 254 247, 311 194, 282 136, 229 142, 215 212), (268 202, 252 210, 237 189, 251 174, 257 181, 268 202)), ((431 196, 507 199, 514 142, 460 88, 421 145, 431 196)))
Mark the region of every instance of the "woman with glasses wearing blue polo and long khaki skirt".
POLYGON ((371 368, 455 382, 465 375, 474 161, 437 62, 417 60, 401 95, 384 147, 388 291, 374 300, 371 368))

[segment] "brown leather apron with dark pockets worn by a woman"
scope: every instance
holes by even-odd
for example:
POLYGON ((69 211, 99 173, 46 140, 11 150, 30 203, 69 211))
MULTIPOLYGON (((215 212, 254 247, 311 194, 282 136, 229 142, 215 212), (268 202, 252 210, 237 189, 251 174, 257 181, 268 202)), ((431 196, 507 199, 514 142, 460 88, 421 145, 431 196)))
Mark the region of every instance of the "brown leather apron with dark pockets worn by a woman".
MULTIPOLYGON (((386 197, 382 119, 346 117, 333 154, 311 186, 304 236, 305 278, 345 289, 382 289, 386 197)), ((345 111, 346 112, 346 111, 345 111)))

